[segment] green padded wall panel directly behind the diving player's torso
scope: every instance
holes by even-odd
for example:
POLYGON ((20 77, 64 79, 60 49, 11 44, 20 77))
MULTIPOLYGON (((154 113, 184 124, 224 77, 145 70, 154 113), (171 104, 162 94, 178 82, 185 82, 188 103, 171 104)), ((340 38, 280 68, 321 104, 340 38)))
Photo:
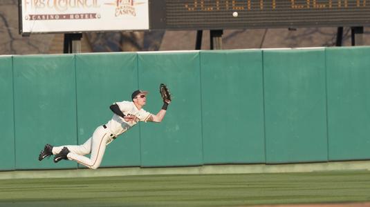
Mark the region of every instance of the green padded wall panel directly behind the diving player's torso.
MULTIPOLYGON (((89 139, 97 126, 112 117, 109 106, 131 99, 138 88, 136 53, 76 55, 78 144, 89 139)), ((110 144, 102 166, 140 166, 139 127, 110 144)), ((82 167, 82 166, 81 166, 82 167)))

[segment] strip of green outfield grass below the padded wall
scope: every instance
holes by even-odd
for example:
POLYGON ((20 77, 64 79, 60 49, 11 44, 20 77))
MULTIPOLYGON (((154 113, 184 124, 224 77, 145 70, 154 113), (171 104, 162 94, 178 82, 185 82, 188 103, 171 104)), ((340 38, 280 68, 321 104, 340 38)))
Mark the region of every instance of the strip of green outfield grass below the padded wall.
POLYGON ((0 180, 0 206, 246 206, 359 201, 370 201, 369 171, 0 180))

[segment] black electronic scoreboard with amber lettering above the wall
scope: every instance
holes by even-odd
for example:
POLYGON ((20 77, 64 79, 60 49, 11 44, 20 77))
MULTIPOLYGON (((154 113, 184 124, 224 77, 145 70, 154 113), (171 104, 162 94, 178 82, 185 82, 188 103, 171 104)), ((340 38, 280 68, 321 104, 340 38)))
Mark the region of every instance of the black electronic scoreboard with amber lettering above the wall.
POLYGON ((166 30, 369 26, 370 0, 152 0, 151 18, 166 30))

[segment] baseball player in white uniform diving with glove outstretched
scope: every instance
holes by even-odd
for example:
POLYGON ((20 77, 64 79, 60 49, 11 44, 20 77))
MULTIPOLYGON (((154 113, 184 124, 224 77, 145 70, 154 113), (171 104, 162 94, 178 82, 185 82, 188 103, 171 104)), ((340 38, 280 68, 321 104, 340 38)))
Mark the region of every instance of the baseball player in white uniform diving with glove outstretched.
POLYGON ((167 106, 171 103, 169 91, 160 85, 160 94, 163 97, 163 107, 153 115, 145 111, 142 107, 147 102, 147 91, 136 90, 132 93, 132 101, 115 102, 110 106, 113 111, 113 117, 107 124, 98 126, 93 136, 80 146, 51 146, 46 144, 44 150, 41 150, 39 161, 45 157, 55 155, 54 162, 57 163, 62 159, 77 161, 88 168, 96 169, 100 166, 104 155, 105 148, 116 137, 126 132, 138 121, 160 122, 165 117, 167 106), (91 154, 90 157, 84 155, 91 154))

